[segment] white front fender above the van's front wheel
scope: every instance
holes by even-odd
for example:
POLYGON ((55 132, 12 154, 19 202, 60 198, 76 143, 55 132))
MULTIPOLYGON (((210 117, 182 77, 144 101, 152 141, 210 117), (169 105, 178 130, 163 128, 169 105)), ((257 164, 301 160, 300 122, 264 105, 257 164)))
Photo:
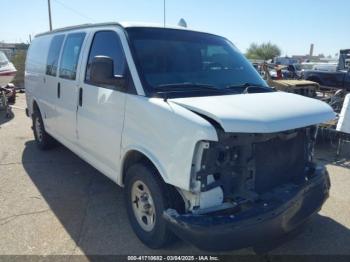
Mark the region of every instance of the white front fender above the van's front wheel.
POLYGON ((194 149, 202 140, 218 137, 214 127, 198 115, 160 98, 128 96, 122 155, 142 152, 165 182, 189 190, 194 149))

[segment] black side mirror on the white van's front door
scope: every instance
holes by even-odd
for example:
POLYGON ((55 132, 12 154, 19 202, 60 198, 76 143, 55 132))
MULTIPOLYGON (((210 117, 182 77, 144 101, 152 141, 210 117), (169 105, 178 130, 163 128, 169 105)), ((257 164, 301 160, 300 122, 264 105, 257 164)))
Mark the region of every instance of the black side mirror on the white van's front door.
POLYGON ((96 85, 110 85, 124 89, 123 75, 114 75, 114 63, 108 56, 95 56, 90 68, 90 81, 96 85))

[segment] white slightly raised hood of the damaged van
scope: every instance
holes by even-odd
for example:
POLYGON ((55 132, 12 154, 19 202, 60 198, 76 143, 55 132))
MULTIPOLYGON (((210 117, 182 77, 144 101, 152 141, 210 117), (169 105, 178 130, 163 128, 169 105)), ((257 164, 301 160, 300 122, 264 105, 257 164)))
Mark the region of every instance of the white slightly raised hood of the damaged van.
POLYGON ((175 98, 168 101, 215 120, 226 132, 274 133, 335 118, 333 109, 326 103, 284 92, 175 98))

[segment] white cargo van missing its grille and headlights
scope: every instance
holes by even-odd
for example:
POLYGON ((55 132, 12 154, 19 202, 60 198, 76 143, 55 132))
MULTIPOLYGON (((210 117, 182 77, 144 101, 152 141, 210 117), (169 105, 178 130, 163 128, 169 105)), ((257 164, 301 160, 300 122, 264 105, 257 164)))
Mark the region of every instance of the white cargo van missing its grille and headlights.
POLYGON ((37 35, 27 113, 118 185, 138 238, 174 235, 227 250, 281 237, 318 212, 327 171, 313 162, 325 103, 274 92, 227 39, 143 24, 37 35))

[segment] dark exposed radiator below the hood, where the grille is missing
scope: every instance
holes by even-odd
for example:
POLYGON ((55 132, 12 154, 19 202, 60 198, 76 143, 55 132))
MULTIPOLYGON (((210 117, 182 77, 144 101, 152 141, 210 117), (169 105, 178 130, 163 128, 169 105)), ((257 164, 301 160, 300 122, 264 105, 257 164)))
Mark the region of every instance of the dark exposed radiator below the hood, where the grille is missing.
POLYGON ((275 137, 255 143, 256 192, 264 193, 302 177, 306 165, 305 143, 305 130, 298 131, 289 139, 275 137))

